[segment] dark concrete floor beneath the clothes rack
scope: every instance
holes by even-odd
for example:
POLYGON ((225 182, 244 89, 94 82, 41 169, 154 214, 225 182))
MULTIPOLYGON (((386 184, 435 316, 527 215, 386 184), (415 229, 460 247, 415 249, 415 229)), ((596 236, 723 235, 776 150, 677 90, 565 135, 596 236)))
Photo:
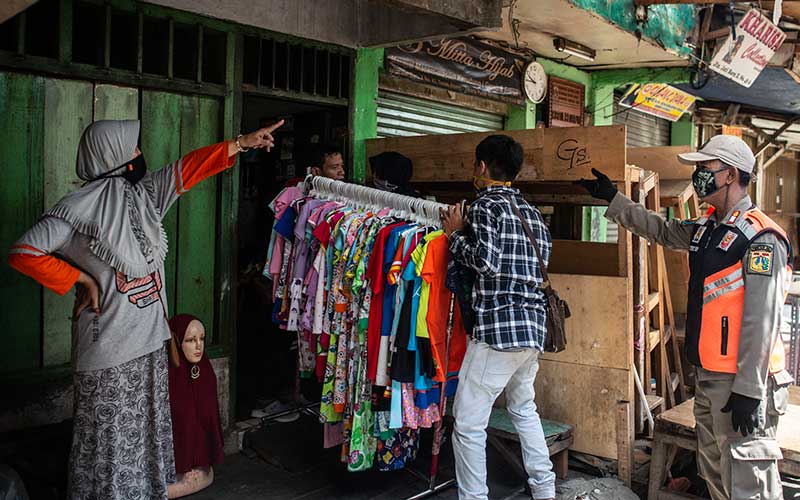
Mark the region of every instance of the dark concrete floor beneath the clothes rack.
MULTIPOLYGON (((430 432, 422 437, 412 467, 427 475, 430 432), (423 472, 424 471, 424 472, 423 472)), ((427 489, 427 482, 408 471, 347 472, 339 462, 339 447, 322 448, 322 426, 311 417, 274 423, 247 436, 248 450, 228 456, 215 468, 215 482, 191 500, 398 500, 427 489)), ((454 477, 452 448, 442 447, 440 481, 454 477)), ((528 498, 519 493, 523 481, 493 451, 489 452, 491 498, 528 498)), ((450 488, 434 498, 457 500, 450 488)))

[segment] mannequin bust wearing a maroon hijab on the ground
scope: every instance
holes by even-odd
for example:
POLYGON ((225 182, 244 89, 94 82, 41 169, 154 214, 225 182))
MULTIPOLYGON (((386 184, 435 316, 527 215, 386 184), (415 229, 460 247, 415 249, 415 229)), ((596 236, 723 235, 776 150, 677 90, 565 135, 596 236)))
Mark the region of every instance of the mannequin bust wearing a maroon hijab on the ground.
POLYGON ((213 464, 223 457, 217 377, 205 354, 205 328, 194 316, 170 320, 169 392, 177 482, 168 498, 191 495, 214 481, 213 464))

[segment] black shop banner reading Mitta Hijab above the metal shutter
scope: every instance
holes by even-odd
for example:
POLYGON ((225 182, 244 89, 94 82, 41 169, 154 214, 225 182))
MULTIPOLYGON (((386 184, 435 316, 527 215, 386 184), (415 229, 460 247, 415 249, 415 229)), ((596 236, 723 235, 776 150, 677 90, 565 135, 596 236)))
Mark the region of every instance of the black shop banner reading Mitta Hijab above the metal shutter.
POLYGON ((409 78, 465 94, 523 104, 526 61, 473 38, 416 42, 384 51, 393 76, 409 78))

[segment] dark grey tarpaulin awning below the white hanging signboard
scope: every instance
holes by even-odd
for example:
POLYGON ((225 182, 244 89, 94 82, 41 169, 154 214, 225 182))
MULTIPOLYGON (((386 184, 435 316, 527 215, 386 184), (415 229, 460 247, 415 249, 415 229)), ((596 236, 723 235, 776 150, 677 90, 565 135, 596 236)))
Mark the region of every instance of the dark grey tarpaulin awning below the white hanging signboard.
POLYGON ((740 104, 786 117, 800 114, 800 84, 783 68, 765 68, 750 88, 716 73, 700 90, 689 84, 675 86, 709 102, 740 104))

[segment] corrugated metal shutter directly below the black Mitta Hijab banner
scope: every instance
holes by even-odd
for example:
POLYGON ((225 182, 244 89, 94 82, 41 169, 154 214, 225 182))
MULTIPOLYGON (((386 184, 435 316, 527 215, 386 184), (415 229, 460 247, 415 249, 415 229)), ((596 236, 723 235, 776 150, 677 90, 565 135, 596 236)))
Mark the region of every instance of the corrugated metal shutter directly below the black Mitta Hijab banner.
POLYGON ((503 115, 390 92, 378 94, 378 137, 503 130, 503 115))

